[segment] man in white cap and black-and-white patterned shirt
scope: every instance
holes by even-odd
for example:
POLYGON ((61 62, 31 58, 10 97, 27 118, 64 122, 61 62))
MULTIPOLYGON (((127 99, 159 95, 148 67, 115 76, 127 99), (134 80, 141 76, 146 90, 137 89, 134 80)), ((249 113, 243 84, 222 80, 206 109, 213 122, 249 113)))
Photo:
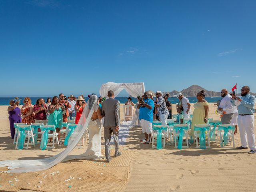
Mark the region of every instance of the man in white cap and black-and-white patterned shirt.
POLYGON ((159 120, 161 121, 162 125, 167 126, 167 118, 168 118, 169 111, 166 107, 165 100, 162 97, 161 91, 156 92, 156 98, 158 98, 158 102, 154 105, 155 107, 157 107, 159 120))

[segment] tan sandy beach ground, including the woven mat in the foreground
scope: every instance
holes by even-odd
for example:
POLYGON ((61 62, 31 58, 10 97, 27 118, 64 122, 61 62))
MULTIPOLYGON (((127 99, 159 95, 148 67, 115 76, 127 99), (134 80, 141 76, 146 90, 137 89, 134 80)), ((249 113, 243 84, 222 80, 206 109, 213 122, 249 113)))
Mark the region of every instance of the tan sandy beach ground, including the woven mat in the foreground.
MULTIPOLYGON (((122 110, 123 107, 120 106, 121 120, 123 120, 122 110)), ((175 114, 174 104, 172 110, 172 113, 175 114)), ((210 103, 209 117, 220 120, 220 116, 215 114, 215 110, 216 107, 210 103)), ((55 149, 42 151, 38 145, 36 148, 30 147, 28 150, 14 150, 13 140, 10 137, 7 106, 0 106, 0 127, 0 160, 44 158, 58 154, 65 149, 64 146, 56 146, 55 149)), ((220 148, 220 144, 211 142, 211 148, 206 150, 196 148, 195 145, 182 150, 167 145, 162 150, 156 150, 152 149, 149 144, 142 144, 140 142, 142 138, 144 138, 144 134, 142 134, 140 127, 129 128, 126 141, 120 145, 123 154, 113 158, 110 164, 104 160, 95 163, 94 161, 83 160, 60 163, 50 170, 37 173, 36 176, 34 176, 36 173, 13 174, 12 176, 0 173, 0 191, 48 192, 53 191, 53 189, 54 191, 111 190, 122 192, 256 191, 256 155, 248 154, 248 149, 236 150, 230 148, 230 145, 220 148), (70 167, 74 169, 72 170, 70 167), (81 170, 83 168, 84 171, 81 170), (54 172, 58 169, 63 170, 59 176, 49 175, 51 171, 54 172), (64 182, 67 176, 79 177, 74 170, 78 170, 78 172, 80 170, 83 175, 81 179, 70 180, 67 185, 64 182), (38 188, 38 184, 35 183, 38 183, 39 176, 44 173, 48 176, 41 180, 43 184, 48 184, 46 186, 41 184, 41 187, 38 188), (62 174, 63 178, 58 180, 62 174), (19 182, 23 182, 23 184, 18 185, 18 182, 13 180, 14 176, 22 178, 19 182), (101 176, 105 183, 101 182, 101 176), (37 178, 38 180, 36 180, 37 178), (13 180, 14 186, 10 186, 8 183, 10 179, 13 180), (58 187, 54 188, 57 182, 58 187), (84 188, 76 187, 81 185, 79 182, 86 183, 84 188), (31 184, 28 185, 28 183, 31 184), (72 187, 69 188, 69 186, 72 187)), ((239 131, 235 135, 235 144, 240 146, 239 131)), ((86 150, 86 147, 85 145, 82 146, 82 149, 75 148, 72 154, 81 154, 86 150)), ((112 155, 114 155, 113 150, 112 155)), ((0 171, 5 170, 7 168, 0 168, 0 171)))

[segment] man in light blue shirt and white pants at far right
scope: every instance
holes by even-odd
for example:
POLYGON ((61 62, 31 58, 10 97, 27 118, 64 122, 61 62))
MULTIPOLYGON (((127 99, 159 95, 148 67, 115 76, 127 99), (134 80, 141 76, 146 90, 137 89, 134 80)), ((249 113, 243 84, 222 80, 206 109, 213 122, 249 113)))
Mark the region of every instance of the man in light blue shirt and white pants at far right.
POLYGON ((255 136, 254 136, 254 105, 256 98, 249 94, 250 88, 243 86, 241 96, 236 97, 232 94, 231 104, 237 106, 238 110, 238 127, 240 131, 241 146, 237 149, 247 149, 249 144, 249 154, 256 153, 255 136), (248 143, 247 143, 248 140, 248 143))

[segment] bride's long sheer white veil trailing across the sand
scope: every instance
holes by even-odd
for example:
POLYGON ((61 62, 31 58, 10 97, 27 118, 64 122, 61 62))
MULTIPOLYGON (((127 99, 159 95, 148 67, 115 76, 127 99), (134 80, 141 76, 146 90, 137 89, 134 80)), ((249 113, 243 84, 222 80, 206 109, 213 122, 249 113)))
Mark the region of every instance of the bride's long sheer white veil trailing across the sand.
POLYGON ((70 137, 68 147, 64 151, 53 157, 44 159, 0 161, 0 167, 8 166, 8 172, 13 173, 35 172, 49 169, 64 160, 64 158, 66 158, 68 154, 76 147, 78 142, 80 142, 84 132, 88 129, 88 123, 90 122, 92 114, 97 107, 97 100, 98 98, 96 95, 90 96, 88 104, 84 108, 78 125, 70 137))

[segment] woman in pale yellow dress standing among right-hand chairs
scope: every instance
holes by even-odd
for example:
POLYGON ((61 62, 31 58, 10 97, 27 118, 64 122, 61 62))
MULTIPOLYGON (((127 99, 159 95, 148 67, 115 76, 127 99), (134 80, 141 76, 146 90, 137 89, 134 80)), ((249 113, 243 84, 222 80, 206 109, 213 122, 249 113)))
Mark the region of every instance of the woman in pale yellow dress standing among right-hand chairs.
POLYGON ((194 104, 194 112, 190 130, 190 143, 194 142, 194 126, 208 122, 209 104, 204 99, 204 90, 196 94, 197 102, 194 104))

